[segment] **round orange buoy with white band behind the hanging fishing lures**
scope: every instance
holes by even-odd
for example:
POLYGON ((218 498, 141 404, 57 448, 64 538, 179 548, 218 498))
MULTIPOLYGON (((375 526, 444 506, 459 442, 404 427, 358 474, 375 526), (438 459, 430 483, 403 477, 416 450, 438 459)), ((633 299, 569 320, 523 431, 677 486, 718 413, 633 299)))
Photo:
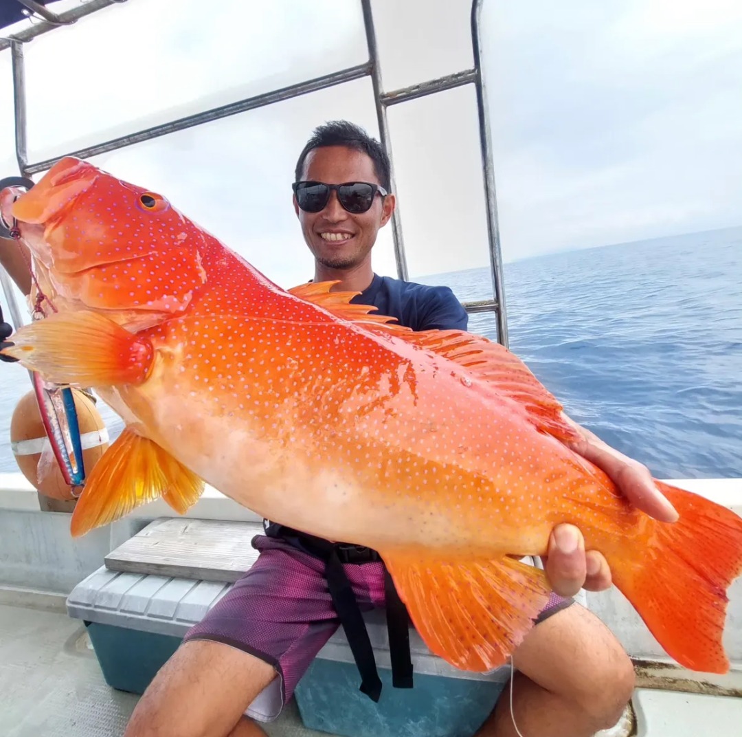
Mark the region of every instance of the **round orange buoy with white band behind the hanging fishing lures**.
MULTIPOLYGON (((73 389, 77 421, 82 441, 82 459, 85 474, 108 449, 108 430, 95 404, 82 391, 73 389)), ((59 464, 51 452, 39 404, 33 391, 22 396, 10 419, 10 447, 16 456, 21 473, 33 484, 39 494, 50 499, 75 499, 80 488, 71 488, 62 477, 59 464), (43 458, 42 458, 43 454, 43 458), (39 460, 42 463, 39 465, 39 460)))

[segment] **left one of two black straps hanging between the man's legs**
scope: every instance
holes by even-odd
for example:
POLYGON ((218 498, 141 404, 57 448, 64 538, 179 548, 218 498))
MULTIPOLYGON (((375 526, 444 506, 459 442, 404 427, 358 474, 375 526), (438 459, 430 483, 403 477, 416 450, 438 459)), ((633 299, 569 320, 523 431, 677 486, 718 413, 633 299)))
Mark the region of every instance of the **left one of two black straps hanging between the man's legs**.
POLYGON ((376 660, 369 633, 335 548, 332 548, 326 561, 325 576, 332 603, 335 605, 335 611, 338 612, 338 618, 348 638, 350 652, 361 674, 361 692, 372 701, 378 701, 381 697, 381 678, 378 677, 376 670, 376 660))

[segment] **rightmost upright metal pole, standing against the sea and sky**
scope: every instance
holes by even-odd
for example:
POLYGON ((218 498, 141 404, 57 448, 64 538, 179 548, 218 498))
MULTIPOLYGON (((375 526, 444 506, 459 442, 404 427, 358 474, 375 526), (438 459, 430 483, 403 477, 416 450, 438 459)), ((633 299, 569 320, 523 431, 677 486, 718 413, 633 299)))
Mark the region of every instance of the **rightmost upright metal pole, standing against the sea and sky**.
POLYGON ((492 160, 490 121, 487 115, 487 91, 482 76, 482 39, 479 35, 479 19, 482 15, 482 0, 473 0, 471 8, 471 41, 476 71, 476 106, 479 114, 479 145, 482 149, 482 171, 484 174, 485 200, 487 203, 487 235, 490 242, 490 270, 495 301, 498 304, 497 335, 502 345, 508 347, 508 314, 505 309, 505 285, 502 279, 502 254, 497 220, 497 198, 495 174, 492 160))

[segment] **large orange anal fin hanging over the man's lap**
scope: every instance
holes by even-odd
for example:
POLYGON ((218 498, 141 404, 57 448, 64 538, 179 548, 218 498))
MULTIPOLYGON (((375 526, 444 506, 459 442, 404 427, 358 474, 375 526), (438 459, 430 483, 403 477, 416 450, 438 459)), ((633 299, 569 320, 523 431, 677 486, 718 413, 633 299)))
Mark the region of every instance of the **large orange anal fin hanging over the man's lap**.
POLYGON ((543 571, 510 557, 381 554, 419 635, 456 668, 489 672, 508 661, 551 590, 543 571))

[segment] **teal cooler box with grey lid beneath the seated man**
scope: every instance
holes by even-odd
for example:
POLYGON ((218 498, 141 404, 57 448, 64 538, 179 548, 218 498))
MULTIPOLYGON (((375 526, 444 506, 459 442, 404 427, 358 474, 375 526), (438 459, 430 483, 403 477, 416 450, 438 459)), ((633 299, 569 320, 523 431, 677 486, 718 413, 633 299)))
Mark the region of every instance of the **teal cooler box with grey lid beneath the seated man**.
MULTIPOLYGON (((67 608, 70 617, 85 622, 106 683, 142 694, 185 632, 231 587, 103 566, 73 589, 67 608)), ((380 701, 358 690, 361 676, 340 628, 295 689, 304 725, 347 737, 471 737, 493 709, 510 669, 490 675, 459 671, 410 629, 415 687, 395 689, 385 614, 375 610, 365 618, 384 684, 380 701)))

